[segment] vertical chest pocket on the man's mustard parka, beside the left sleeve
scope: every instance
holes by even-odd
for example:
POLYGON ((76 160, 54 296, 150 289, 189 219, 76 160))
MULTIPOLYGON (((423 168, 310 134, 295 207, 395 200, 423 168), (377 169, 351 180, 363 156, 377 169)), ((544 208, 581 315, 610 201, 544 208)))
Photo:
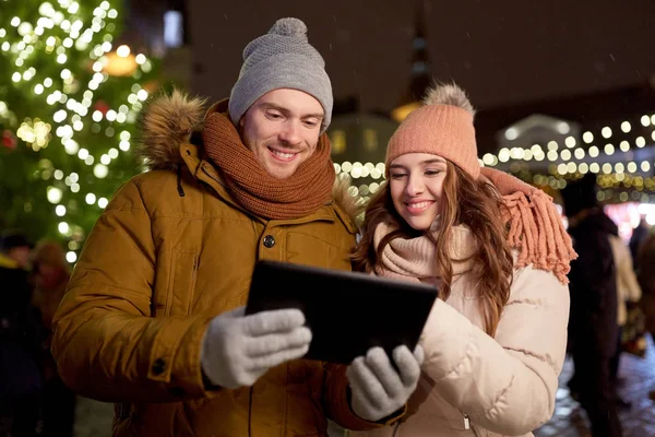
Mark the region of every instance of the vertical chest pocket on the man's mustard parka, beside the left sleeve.
POLYGON ((180 249, 172 253, 170 280, 166 293, 166 316, 187 316, 191 312, 198 262, 195 250, 180 249))

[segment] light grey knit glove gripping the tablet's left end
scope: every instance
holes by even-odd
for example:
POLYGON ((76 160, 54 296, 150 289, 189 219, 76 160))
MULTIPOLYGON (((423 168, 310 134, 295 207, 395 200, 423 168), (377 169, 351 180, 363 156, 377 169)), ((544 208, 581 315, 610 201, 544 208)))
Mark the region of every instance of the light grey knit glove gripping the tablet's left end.
POLYGON ((227 389, 254 381, 309 350, 311 331, 298 309, 278 309, 246 316, 246 308, 216 316, 202 340, 200 363, 210 381, 227 389))

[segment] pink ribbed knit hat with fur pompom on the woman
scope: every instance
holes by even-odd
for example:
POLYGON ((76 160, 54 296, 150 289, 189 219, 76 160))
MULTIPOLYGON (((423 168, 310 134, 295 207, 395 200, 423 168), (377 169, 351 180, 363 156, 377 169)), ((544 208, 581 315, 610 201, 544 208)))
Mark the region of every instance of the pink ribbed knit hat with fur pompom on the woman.
POLYGON ((431 153, 456 164, 477 179, 480 164, 473 127, 475 109, 466 93, 455 84, 438 85, 430 90, 424 103, 409 114, 389 141, 386 172, 401 155, 431 153))

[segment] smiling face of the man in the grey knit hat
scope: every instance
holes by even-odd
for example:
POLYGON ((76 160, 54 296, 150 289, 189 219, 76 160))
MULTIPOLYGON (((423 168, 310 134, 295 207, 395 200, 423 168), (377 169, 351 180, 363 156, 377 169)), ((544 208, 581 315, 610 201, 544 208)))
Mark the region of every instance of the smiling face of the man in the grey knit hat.
POLYGON ((277 179, 294 175, 317 149, 323 107, 309 94, 273 90, 241 118, 241 138, 266 173, 277 179))

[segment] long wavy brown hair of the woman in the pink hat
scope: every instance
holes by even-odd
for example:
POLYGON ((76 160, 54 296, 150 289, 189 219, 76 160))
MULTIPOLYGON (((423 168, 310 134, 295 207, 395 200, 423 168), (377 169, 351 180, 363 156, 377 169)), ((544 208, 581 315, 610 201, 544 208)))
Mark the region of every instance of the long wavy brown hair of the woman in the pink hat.
MULTIPOLYGON (((453 226, 471 228, 477 252, 472 256, 471 279, 480 297, 480 314, 485 331, 493 336, 502 309, 510 297, 513 258, 507 241, 507 228, 500 216, 500 194, 485 180, 474 180, 460 167, 446 161, 443 181, 443 209, 439 237, 426 234, 434 241, 438 271, 441 276, 440 297, 445 300, 451 293, 453 268, 449 257, 449 241, 453 226)), ((396 212, 391 199, 389 182, 370 199, 366 208, 362 238, 353 253, 358 270, 372 272, 379 264, 384 247, 395 238, 414 238, 422 233, 413 229, 396 212), (397 229, 384 236, 374 247, 373 233, 380 223, 392 223, 397 229)))

